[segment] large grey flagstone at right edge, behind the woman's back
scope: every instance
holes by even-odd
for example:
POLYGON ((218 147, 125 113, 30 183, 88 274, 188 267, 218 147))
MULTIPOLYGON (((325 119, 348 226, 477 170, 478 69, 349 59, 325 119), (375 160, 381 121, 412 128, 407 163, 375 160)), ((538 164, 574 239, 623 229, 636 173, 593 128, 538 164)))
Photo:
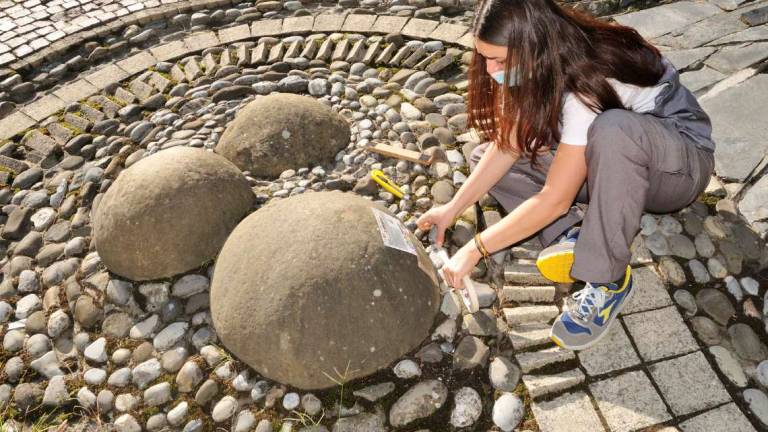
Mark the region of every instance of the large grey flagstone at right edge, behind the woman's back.
POLYGON ((757 75, 740 85, 702 101, 702 108, 712 119, 712 136, 718 175, 744 179, 768 150, 765 139, 765 95, 768 75, 757 75), (734 157, 737 150, 748 154, 734 157))

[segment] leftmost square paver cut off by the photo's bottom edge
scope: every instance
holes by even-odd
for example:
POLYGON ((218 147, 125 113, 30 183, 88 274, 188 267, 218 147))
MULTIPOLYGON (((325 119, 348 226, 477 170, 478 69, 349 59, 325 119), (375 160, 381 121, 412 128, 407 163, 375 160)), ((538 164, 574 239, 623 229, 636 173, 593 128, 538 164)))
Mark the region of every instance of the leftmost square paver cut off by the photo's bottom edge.
POLYGON ((546 402, 532 402, 531 409, 541 432, 605 431, 584 392, 567 393, 546 402))

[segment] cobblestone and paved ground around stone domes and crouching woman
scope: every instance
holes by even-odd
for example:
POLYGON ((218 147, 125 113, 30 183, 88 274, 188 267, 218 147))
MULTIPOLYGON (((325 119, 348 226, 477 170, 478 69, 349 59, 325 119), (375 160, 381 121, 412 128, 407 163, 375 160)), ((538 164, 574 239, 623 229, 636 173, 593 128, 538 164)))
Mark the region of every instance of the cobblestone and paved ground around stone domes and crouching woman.
MULTIPOLYGON (((275 422, 325 430, 288 419, 298 407, 293 390, 217 354, 212 266, 195 274, 205 283, 191 294, 190 275, 121 280, 91 243, 92 208, 121 170, 175 146, 212 150, 242 106, 280 91, 333 107, 351 121, 353 138, 335 165, 270 181, 249 176, 257 207, 310 190, 351 190, 423 234, 416 217, 450 199, 478 144, 464 112, 472 7, 0 1, 0 419, 68 400, 118 430, 258 423, 265 431, 275 422), (365 151, 381 139, 434 148, 438 162, 424 169, 365 151), (380 192, 367 176, 373 168, 407 185, 413 200, 380 192), (158 348, 166 345, 173 349, 158 348)), ((420 407, 427 414, 408 430, 768 428, 768 1, 679 1, 613 19, 638 29, 682 72, 712 117, 718 149, 717 176, 700 201, 643 217, 633 244, 637 295, 606 340, 578 353, 550 343, 549 325, 571 287, 538 274, 540 245, 517 245, 495 256, 500 280, 476 272, 488 282, 480 312, 463 313, 444 293, 423 346, 394 375, 354 386, 348 415, 327 416, 322 427, 387 430, 396 406, 418 405, 408 400, 406 390, 417 387, 409 380, 449 375, 453 384, 436 391, 450 402, 420 407), (417 374, 403 375, 413 368, 417 374), (382 388, 389 390, 370 397, 382 388)), ((471 209, 457 222, 454 246, 479 219, 500 219, 492 199, 482 204, 482 213, 471 209)), ((301 393, 300 409, 313 419, 338 410, 327 395, 318 393, 317 408, 317 397, 301 393)))

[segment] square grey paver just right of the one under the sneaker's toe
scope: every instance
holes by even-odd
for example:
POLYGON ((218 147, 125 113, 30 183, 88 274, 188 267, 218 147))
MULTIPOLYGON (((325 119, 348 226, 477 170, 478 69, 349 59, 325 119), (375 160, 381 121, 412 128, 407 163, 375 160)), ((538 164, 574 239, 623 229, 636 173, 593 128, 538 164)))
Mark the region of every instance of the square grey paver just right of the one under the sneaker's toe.
POLYGON ((674 306, 625 316, 624 322, 645 361, 685 354, 699 348, 674 306))

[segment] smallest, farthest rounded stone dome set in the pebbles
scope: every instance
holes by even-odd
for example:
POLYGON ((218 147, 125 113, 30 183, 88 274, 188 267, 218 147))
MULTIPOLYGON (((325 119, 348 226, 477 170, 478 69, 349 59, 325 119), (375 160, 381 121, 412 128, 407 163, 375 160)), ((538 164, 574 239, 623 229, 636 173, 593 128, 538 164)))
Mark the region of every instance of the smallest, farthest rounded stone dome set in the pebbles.
POLYGON ((330 164, 350 141, 349 124, 309 96, 273 93, 235 116, 216 152, 256 177, 330 164))

